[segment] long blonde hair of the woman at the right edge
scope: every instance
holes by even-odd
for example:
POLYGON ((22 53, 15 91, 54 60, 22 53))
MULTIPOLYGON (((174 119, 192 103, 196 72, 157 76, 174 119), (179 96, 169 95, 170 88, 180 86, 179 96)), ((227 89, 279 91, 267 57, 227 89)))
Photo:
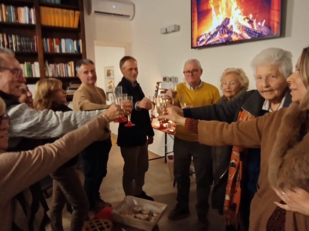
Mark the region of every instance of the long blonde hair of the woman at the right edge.
POLYGON ((302 56, 300 58, 300 65, 299 65, 299 74, 300 78, 302 79, 305 87, 307 88, 307 94, 305 95, 304 99, 299 105, 301 110, 308 110, 309 109, 309 47, 303 49, 302 56))

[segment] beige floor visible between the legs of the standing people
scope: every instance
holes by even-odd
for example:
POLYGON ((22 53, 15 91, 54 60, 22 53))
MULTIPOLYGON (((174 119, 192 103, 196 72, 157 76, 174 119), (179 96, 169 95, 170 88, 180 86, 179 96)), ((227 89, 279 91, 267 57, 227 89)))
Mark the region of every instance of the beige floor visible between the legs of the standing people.
MULTIPOLYGON (((150 158, 157 157, 150 154, 150 158)), ((104 201, 116 205, 125 197, 122 189, 122 168, 123 159, 120 154, 120 148, 115 145, 113 139, 113 147, 109 154, 108 160, 108 174, 104 178, 101 184, 100 193, 104 201)), ((81 174, 81 178, 83 175, 81 174)), ((164 163, 164 159, 152 160, 149 162, 149 170, 146 173, 144 190, 148 195, 154 197, 155 201, 167 204, 167 209, 164 216, 159 221, 160 231, 195 231, 199 230, 197 227, 197 215, 195 210, 196 203, 196 184, 195 178, 191 177, 191 188, 190 188, 190 212, 191 217, 188 217, 182 221, 170 221, 167 219, 168 213, 176 205, 176 192, 177 189, 173 188, 173 180, 171 179, 168 171, 167 164, 164 163)), ((51 204, 51 198, 48 200, 48 204, 51 204)), ((210 221, 210 229, 214 231, 225 230, 223 217, 220 216, 217 210, 210 209, 208 214, 210 221)), ((70 213, 63 210, 63 226, 64 230, 70 230, 70 213)), ((51 230, 50 227, 48 230, 51 230)))

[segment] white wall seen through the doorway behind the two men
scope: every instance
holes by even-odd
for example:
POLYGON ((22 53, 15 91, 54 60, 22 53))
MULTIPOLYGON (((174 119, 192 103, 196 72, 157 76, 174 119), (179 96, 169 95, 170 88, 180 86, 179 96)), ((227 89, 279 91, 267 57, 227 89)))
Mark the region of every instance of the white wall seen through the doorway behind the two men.
MULTIPOLYGON (((119 61, 125 56, 124 47, 103 47, 95 46, 95 70, 97 73, 97 86, 105 91, 104 67, 114 67, 115 71, 115 87, 122 79, 122 74, 119 69, 119 61)), ((106 92, 106 91, 105 91, 106 92)), ((107 101, 111 104, 111 101, 107 101)), ((110 129, 112 133, 118 134, 118 124, 110 123, 110 129)))

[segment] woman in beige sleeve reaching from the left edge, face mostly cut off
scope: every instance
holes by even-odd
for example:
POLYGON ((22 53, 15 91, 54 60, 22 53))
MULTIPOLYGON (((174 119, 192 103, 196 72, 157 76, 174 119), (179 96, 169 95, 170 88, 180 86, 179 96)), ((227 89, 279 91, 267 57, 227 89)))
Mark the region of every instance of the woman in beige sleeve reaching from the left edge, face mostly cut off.
POLYGON ((5 110, 5 103, 0 98, 0 229, 44 230, 44 210, 38 208, 32 214, 32 208, 38 205, 32 203, 28 187, 104 137, 109 132, 108 123, 123 116, 123 112, 112 104, 99 117, 52 144, 31 151, 6 152, 9 118, 4 114, 5 110))

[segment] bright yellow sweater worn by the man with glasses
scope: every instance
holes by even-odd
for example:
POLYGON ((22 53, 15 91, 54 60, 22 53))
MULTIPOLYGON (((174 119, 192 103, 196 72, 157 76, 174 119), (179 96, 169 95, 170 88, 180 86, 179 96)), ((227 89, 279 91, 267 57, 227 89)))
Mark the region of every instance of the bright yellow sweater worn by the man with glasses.
MULTIPOLYGON (((180 83, 177 86, 177 96, 175 99, 175 105, 179 104, 179 95, 185 95, 186 104, 193 105, 193 107, 200 107, 204 105, 210 105, 216 103, 220 99, 220 93, 217 87, 202 82, 202 86, 197 90, 190 90, 187 87, 187 83, 180 83)), ((184 126, 177 125, 175 136, 179 139, 186 140, 189 142, 197 142, 198 135, 184 130, 184 126)))

